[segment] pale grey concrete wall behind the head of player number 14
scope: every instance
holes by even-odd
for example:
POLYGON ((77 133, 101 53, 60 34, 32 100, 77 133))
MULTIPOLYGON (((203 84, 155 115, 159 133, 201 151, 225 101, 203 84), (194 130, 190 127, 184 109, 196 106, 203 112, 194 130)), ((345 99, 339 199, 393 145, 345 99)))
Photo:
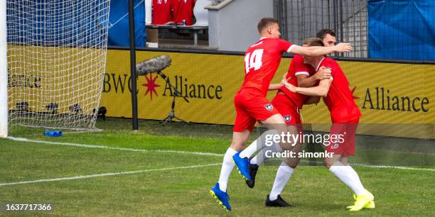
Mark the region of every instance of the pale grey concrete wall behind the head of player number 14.
POLYGON ((245 52, 259 40, 258 21, 273 16, 273 0, 232 0, 220 9, 209 9, 209 46, 218 50, 245 52))

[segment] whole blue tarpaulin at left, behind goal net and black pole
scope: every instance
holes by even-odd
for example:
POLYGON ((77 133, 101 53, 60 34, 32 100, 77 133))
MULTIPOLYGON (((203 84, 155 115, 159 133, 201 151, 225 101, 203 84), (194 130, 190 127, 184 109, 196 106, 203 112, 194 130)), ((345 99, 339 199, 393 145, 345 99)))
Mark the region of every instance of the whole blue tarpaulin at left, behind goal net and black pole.
MULTIPOLYGON (((42 46, 101 45, 98 37, 107 26, 107 20, 104 20, 107 5, 103 4, 107 1, 53 2, 55 4, 33 1, 21 9, 15 1, 7 1, 8 41, 42 46), (70 4, 75 6, 74 11, 63 9, 70 4)), ((110 1, 108 45, 130 45, 128 2, 110 1)), ((134 6, 136 47, 143 48, 146 44, 144 0, 134 0, 134 6)))

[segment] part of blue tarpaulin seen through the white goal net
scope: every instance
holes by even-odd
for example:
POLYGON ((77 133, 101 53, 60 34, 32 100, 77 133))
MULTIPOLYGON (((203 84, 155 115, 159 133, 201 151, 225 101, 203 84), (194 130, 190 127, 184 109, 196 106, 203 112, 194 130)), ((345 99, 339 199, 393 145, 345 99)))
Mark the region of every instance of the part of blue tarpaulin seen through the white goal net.
POLYGON ((8 42, 37 46, 99 46, 107 1, 7 1, 8 42), (84 9, 80 11, 80 9, 84 9))

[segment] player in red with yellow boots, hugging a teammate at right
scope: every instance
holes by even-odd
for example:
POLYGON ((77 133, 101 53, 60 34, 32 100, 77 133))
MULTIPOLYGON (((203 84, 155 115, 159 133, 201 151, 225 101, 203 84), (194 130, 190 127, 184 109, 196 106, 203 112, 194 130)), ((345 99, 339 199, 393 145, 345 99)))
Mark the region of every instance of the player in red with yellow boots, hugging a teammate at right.
MULTIPOLYGON (((322 43, 320 38, 317 40, 317 43, 322 43)), ((286 81, 283 83, 294 93, 323 97, 333 123, 330 133, 343 137, 343 141, 331 140, 331 144, 326 146, 326 151, 332 153, 333 157, 326 157, 324 163, 338 179, 355 192, 355 203, 348 206, 350 211, 375 208, 374 196, 363 187, 360 177, 348 164, 348 157, 355 155, 355 131, 361 116, 360 109, 353 101, 348 79, 340 65, 329 57, 304 56, 304 63, 311 65, 316 72, 321 68, 331 70, 331 79, 323 79, 318 86, 310 88, 295 87, 286 81)))

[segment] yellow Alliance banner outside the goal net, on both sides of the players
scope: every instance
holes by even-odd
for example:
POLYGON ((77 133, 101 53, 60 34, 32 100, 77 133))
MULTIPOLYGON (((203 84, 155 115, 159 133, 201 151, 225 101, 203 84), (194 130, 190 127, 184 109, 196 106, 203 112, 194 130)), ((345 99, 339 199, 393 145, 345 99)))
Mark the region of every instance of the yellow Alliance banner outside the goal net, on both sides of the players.
MULTIPOLYGON (((183 52, 136 52, 136 61, 169 55, 171 67, 163 70, 171 84, 186 96, 176 98, 175 113, 195 123, 232 125, 233 97, 244 79, 244 58, 240 55, 183 52)), ((279 82, 291 59, 283 58, 274 82, 279 82)), ((363 113, 360 123, 394 124, 387 135, 434 138, 435 65, 339 61, 350 82, 355 102, 363 113), (415 129, 416 124, 419 130, 415 129), (406 133, 404 125, 421 135, 406 133), (400 126, 400 127, 399 127, 400 126), (405 133, 405 134, 404 134, 405 133)), ((128 50, 108 50, 100 106, 107 116, 131 118, 131 77, 128 50)), ((156 73, 137 79, 139 118, 161 120, 171 111, 173 89, 156 73)), ((272 99, 274 92, 269 92, 272 99)), ((323 103, 304 106, 305 123, 330 123, 323 103)), ((385 128, 385 127, 380 127, 385 128)), ((375 127, 361 132, 377 135, 375 127)), ((379 133, 385 135, 385 133, 379 133)))

